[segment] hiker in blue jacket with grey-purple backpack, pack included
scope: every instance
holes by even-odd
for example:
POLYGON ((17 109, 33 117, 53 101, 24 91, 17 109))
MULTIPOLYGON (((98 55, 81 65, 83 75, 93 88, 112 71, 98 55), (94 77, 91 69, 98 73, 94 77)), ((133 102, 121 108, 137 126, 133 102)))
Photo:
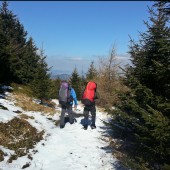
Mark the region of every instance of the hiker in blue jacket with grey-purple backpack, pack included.
POLYGON ((69 122, 70 124, 74 123, 73 113, 72 113, 72 106, 74 102, 74 108, 77 108, 77 97, 75 90, 71 87, 66 81, 63 81, 60 86, 59 90, 59 103, 61 104, 61 117, 60 117, 60 128, 64 128, 65 126, 65 113, 68 112, 69 115, 69 122))

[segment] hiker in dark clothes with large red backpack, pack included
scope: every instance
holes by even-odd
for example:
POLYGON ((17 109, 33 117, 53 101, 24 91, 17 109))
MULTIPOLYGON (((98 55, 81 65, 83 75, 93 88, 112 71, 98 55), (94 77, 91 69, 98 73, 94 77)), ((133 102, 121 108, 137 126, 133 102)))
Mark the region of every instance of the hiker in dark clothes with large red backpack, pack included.
POLYGON ((93 81, 89 81, 85 87, 82 96, 82 103, 84 104, 84 129, 87 130, 88 127, 88 117, 89 112, 91 112, 92 120, 91 120, 91 128, 96 128, 96 106, 95 99, 98 99, 99 95, 97 93, 97 84, 93 81))

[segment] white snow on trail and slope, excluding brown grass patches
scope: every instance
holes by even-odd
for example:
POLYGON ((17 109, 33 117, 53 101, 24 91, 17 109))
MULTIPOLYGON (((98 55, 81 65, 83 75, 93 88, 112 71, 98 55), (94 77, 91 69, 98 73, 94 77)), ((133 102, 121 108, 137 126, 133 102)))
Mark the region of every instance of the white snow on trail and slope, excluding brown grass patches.
MULTIPOLYGON (((10 95, 6 93, 6 95, 10 95)), ((57 100, 54 100, 56 103, 57 100)), ((0 104, 7 107, 7 110, 0 109, 0 122, 7 122, 17 117, 13 111, 20 110, 14 102, 0 96, 0 104)), ((60 108, 56 107, 57 110, 60 108)), ((24 112, 24 111, 22 111, 24 112)), ((78 113, 83 113, 82 105, 77 108, 78 113)), ((27 155, 18 158, 12 163, 7 163, 10 153, 13 151, 0 146, 0 149, 8 153, 4 161, 0 162, 0 170, 22 169, 23 165, 29 164, 28 170, 113 170, 121 169, 118 161, 113 158, 110 150, 106 149, 108 143, 103 138, 105 127, 101 120, 106 119, 106 114, 97 109, 96 129, 88 127, 82 129, 83 117, 76 118, 74 124, 66 123, 65 128, 60 129, 53 120, 58 120, 59 115, 50 117, 41 112, 24 112, 35 119, 28 119, 29 123, 39 131, 44 130, 44 139, 41 140, 34 149, 30 150, 33 159, 28 159, 27 155), (48 118, 52 118, 51 120, 48 118), (38 152, 34 152, 37 150, 38 152)))

